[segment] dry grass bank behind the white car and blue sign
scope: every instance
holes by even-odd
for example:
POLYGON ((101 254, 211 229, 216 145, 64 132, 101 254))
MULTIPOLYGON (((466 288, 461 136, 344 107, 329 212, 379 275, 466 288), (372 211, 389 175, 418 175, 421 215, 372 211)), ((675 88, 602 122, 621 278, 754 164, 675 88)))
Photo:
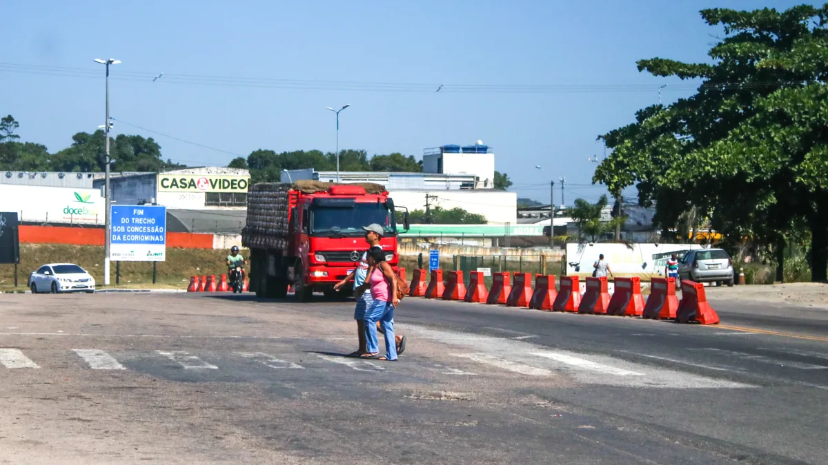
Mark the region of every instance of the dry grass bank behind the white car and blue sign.
MULTIPOLYGON (((117 287, 155 287, 160 289, 186 288, 190 276, 220 275, 227 272, 224 259, 229 250, 166 249, 166 261, 159 261, 158 285, 152 286, 152 262, 122 261, 121 283, 117 287)), ((248 257, 248 251, 241 254, 248 257)), ((71 246, 65 244, 21 244, 20 264, 17 266, 18 289, 26 288, 29 273, 46 263, 75 263, 103 284, 103 247, 71 246)), ((115 262, 110 269, 110 285, 115 287, 115 262)), ((14 266, 0 265, 0 289, 14 288, 14 266)))

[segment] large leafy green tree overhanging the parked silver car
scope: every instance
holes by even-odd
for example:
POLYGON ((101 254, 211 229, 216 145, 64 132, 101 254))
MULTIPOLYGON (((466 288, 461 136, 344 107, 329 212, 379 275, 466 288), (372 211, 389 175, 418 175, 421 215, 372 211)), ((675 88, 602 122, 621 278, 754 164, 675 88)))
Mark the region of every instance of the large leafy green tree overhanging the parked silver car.
POLYGON ((828 4, 701 17, 724 26, 713 63, 638 62, 657 76, 701 79, 697 93, 640 110, 633 124, 601 136, 613 152, 593 180, 610 192, 636 185, 662 228, 695 209, 729 241, 752 237, 781 250, 805 225, 811 276, 826 280, 828 4))

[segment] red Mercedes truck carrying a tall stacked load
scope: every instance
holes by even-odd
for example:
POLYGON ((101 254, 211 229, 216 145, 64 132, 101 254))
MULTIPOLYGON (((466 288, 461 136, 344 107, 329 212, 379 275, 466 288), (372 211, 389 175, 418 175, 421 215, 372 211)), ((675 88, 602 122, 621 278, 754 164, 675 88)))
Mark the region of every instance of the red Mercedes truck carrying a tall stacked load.
MULTIPOLYGON (((408 229, 407 212, 404 221, 408 229)), ((257 297, 281 298, 293 285, 302 302, 314 292, 335 295, 334 285, 354 271, 368 248, 363 226, 371 223, 385 229, 381 245, 396 271, 397 222, 383 185, 310 180, 252 185, 242 231, 242 245, 250 248, 250 290, 257 297)))

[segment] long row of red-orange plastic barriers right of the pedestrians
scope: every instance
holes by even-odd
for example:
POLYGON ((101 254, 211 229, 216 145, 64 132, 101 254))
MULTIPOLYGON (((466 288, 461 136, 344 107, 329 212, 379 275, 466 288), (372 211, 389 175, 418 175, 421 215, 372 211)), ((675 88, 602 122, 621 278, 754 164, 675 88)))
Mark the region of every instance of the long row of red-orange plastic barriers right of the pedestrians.
POLYGON ((470 272, 468 289, 463 271, 449 271, 445 284, 443 277, 442 270, 433 270, 431 280, 426 284, 426 271, 414 270, 409 295, 578 314, 675 319, 681 323, 719 323, 719 315, 707 301, 705 286, 690 280, 681 281, 679 301, 673 278, 652 278, 650 296, 645 304, 638 277, 615 278, 612 295, 609 294, 609 281, 606 277, 586 278, 584 295, 580 294, 578 276, 562 276, 560 290, 556 290, 554 275, 535 276, 535 288, 532 289, 530 273, 515 273, 514 276, 509 271, 493 273, 490 290, 486 289, 482 271, 470 272))

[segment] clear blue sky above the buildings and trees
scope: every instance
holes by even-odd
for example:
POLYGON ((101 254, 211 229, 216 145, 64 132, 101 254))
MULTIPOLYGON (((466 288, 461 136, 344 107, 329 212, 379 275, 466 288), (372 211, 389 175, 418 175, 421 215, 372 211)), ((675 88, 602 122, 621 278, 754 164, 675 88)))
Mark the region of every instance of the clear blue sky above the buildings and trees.
MULTIPOLYGON (((687 83, 639 74, 636 60, 708 60, 715 41, 709 34, 720 31, 700 20, 701 8, 784 9, 802 2, 236 3, 2 2, 7 45, 0 62, 46 71, 0 65, 0 113, 20 122, 25 141, 50 151, 69 146, 75 132, 103 124, 103 66, 92 60, 111 57, 123 61, 110 81, 117 120, 242 156, 258 148, 334 151, 334 115, 325 107, 350 103, 340 115, 340 148, 419 159, 426 147, 480 139, 494 147, 497 169, 508 173, 518 194, 548 199, 548 178, 534 168, 543 165, 556 181, 566 176, 571 204, 604 193, 587 186, 595 168, 587 158, 603 150, 595 141, 599 133, 657 103, 659 85, 669 84, 665 103, 692 93, 687 83), (184 74, 339 84, 195 84, 184 74), (385 92, 378 85, 348 89, 346 81, 426 85, 385 92), (453 90, 461 84, 647 88, 453 90)), ((189 165, 226 165, 233 158, 123 124, 115 129, 154 137, 165 158, 189 165)))

